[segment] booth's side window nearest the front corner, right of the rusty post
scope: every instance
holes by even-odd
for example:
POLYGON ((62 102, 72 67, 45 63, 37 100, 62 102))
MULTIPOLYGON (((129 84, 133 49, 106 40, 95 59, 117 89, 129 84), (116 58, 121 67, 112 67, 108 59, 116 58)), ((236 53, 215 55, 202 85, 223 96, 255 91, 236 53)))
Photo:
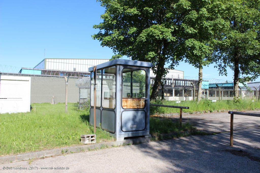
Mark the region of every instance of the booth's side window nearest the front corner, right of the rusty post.
POLYGON ((113 66, 103 69, 102 75, 102 107, 114 109, 116 67, 113 66))

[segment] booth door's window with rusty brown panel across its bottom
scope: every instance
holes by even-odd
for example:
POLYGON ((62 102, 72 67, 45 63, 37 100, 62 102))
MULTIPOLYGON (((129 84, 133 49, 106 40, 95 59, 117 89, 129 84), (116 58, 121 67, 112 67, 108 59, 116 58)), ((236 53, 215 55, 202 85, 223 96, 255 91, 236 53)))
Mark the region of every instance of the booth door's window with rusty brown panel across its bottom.
POLYGON ((145 71, 124 68, 122 72, 122 107, 125 109, 145 108, 145 71))

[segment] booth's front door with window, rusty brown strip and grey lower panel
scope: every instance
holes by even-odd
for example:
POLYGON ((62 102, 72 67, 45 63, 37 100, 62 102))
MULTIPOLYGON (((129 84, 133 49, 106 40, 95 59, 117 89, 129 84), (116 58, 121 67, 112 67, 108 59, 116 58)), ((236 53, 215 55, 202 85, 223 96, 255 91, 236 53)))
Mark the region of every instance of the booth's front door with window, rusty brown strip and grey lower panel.
POLYGON ((146 128, 147 84, 145 70, 123 68, 122 70, 122 114, 123 132, 140 131, 146 128))

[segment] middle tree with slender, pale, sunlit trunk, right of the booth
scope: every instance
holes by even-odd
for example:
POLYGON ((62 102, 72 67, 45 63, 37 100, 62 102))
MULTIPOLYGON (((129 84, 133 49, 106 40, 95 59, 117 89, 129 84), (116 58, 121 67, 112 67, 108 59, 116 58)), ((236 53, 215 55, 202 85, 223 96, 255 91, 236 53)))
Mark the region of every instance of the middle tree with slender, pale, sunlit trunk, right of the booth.
POLYGON ((213 63, 213 48, 219 44, 218 33, 225 26, 220 14, 224 4, 220 1, 202 1, 190 4, 192 9, 182 20, 181 37, 177 40, 177 57, 199 69, 197 101, 201 99, 203 66, 213 63))

